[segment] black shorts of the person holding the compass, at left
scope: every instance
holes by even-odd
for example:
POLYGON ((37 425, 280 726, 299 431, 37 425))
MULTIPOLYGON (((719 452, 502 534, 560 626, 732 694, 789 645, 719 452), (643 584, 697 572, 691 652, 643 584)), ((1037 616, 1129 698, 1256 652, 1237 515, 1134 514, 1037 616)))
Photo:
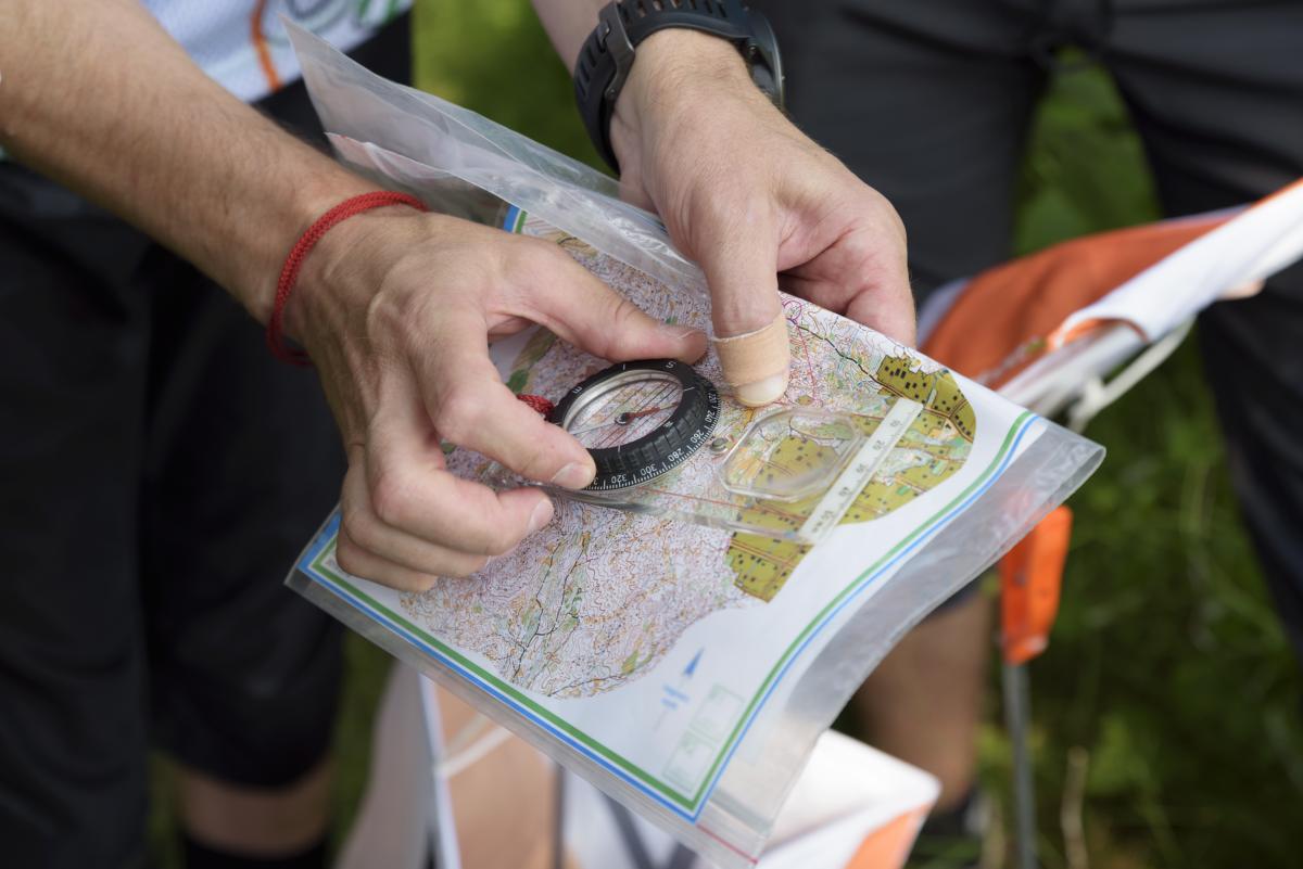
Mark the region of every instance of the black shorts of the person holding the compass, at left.
MULTIPOLYGON (((401 81, 409 44, 354 56, 401 81)), ((321 140, 301 83, 265 108, 321 140)), ((343 479, 314 372, 0 163, 0 864, 141 862, 151 747, 250 786, 314 768, 341 635, 281 583, 343 479)))

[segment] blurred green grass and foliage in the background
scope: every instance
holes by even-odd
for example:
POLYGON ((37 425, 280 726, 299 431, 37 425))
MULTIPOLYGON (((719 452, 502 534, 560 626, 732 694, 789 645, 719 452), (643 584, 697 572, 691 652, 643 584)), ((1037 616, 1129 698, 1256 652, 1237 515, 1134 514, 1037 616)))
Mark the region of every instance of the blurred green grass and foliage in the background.
MULTIPOLYGON (((422 88, 595 161, 526 0, 417 0, 417 25, 422 88)), ((1100 70, 1054 81, 1019 196, 1019 252, 1160 216, 1140 143, 1100 70)), ((1062 613, 1031 669, 1042 862, 1303 865, 1299 673, 1240 524, 1194 341, 1087 433, 1109 457, 1071 502, 1062 613)), ((362 787, 386 667, 351 637, 341 820, 362 787)), ((988 860, 1011 865, 994 666, 989 697, 981 765, 999 823, 988 860)))

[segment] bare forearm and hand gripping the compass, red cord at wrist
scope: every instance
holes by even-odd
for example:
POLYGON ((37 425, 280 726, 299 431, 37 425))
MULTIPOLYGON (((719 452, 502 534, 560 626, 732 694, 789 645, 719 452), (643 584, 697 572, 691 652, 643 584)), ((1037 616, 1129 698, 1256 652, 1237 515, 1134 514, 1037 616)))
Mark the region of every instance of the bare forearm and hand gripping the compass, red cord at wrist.
MULTIPOLYGON (((294 238, 375 189, 222 90, 137 0, 7 4, 0 59, 0 144, 185 256, 262 323, 294 238)), ((534 480, 593 476, 586 450, 500 382, 490 337, 533 321, 607 359, 705 350, 701 333, 654 323, 554 245, 408 208, 351 217, 304 267, 284 325, 348 448, 339 558, 397 588, 472 572, 551 516, 542 492, 453 477, 442 441, 534 480)))

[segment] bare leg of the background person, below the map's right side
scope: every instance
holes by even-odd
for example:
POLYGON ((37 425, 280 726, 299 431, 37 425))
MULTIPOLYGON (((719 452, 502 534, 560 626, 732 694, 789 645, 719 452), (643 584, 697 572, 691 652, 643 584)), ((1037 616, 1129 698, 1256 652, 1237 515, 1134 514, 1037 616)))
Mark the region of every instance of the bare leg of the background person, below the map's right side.
POLYGON ((973 783, 992 604, 971 595, 919 624, 851 701, 870 743, 941 779, 937 809, 973 783))

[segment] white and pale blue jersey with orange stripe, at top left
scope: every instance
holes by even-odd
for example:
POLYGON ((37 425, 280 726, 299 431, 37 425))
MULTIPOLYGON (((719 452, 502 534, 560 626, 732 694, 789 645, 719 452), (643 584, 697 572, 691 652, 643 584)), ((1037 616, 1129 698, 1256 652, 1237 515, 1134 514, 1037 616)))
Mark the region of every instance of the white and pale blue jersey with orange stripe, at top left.
POLYGON ((412 0, 143 0, 190 57, 253 101, 298 78, 281 16, 348 51, 412 0))

